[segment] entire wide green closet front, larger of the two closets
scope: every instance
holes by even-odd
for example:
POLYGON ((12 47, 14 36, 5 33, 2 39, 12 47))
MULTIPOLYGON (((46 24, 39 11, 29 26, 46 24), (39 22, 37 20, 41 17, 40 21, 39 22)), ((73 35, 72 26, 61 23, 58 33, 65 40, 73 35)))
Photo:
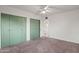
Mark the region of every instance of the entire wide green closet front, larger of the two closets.
POLYGON ((1 14, 1 46, 7 47, 26 41, 26 18, 1 14))

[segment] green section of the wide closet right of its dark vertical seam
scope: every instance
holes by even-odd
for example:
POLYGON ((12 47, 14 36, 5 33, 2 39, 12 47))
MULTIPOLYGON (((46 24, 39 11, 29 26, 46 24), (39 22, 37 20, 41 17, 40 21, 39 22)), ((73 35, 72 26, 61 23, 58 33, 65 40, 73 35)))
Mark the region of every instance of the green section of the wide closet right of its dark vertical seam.
POLYGON ((22 43, 26 40, 25 18, 10 16, 10 45, 22 43))

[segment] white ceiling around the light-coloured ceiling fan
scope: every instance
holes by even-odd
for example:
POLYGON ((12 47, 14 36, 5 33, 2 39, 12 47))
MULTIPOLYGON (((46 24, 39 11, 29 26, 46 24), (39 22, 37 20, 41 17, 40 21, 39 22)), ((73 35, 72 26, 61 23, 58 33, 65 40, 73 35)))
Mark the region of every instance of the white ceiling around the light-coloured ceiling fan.
MULTIPOLYGON (((40 14, 40 11, 46 5, 9 5, 10 7, 17 8, 23 11, 28 11, 35 14, 40 14)), ((48 5, 48 12, 47 14, 56 14, 67 12, 71 10, 79 9, 79 5, 48 5)))

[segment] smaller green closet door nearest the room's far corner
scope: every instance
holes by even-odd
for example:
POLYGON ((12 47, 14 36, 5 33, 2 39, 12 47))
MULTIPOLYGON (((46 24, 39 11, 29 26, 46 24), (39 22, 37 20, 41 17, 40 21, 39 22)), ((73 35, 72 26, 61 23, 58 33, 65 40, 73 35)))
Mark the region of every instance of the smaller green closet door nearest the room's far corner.
POLYGON ((40 38, 40 20, 30 20, 30 38, 33 40, 40 38))

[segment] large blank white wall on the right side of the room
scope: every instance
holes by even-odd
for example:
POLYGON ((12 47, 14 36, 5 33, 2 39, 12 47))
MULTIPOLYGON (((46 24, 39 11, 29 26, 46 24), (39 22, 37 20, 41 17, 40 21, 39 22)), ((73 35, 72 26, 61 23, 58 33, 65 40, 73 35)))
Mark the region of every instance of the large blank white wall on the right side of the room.
POLYGON ((79 10, 49 16, 48 35, 79 43, 79 10))

